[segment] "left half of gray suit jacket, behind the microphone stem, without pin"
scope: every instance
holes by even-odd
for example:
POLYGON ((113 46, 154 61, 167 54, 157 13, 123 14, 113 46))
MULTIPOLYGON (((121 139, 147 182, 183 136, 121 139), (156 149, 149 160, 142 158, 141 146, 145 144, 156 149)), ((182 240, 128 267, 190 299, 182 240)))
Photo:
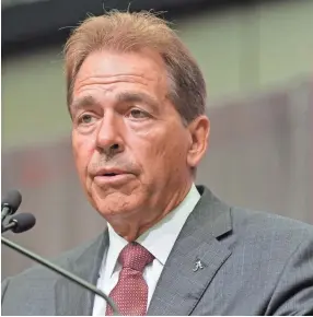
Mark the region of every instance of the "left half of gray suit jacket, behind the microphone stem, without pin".
MULTIPOLYGON (((90 283, 94 283, 105 242, 106 234, 102 234, 96 239, 62 254, 53 262, 90 283)), ((76 304, 70 301, 67 303, 67 300, 70 300, 71 296, 79 298, 81 293, 88 292, 42 266, 34 266, 13 278, 8 278, 2 282, 1 287, 2 315, 72 315, 70 310, 68 310, 69 314, 60 314, 66 313, 68 305, 76 304), (70 297, 63 297, 65 289, 67 292, 71 292, 70 297)), ((77 303, 76 309, 80 309, 83 304, 88 306, 89 298, 92 301, 92 294, 85 297, 86 302, 77 303)), ((85 309, 83 308, 78 315, 82 315, 85 309)))

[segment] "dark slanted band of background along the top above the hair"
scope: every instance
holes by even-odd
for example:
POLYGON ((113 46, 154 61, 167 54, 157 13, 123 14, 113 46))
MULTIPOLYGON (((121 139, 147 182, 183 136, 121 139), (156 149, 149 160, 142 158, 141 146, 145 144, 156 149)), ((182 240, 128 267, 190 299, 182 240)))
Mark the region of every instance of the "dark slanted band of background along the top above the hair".
MULTIPOLYGON (((277 2, 279 0, 271 0, 277 2)), ((282 1, 282 0, 280 0, 282 1)), ((21 0, 2 1, 2 56, 63 42, 72 26, 104 10, 166 11, 167 20, 202 10, 254 5, 257 0, 21 0)))

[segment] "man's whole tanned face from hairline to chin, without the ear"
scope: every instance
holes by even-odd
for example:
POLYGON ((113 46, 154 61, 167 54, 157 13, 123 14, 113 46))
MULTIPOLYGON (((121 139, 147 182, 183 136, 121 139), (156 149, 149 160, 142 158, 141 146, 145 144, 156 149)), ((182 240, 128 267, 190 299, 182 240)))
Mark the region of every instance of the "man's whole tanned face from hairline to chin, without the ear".
POLYGON ((74 160, 89 200, 106 219, 161 213, 190 186, 193 138, 167 93, 163 61, 150 50, 93 52, 78 73, 74 160))

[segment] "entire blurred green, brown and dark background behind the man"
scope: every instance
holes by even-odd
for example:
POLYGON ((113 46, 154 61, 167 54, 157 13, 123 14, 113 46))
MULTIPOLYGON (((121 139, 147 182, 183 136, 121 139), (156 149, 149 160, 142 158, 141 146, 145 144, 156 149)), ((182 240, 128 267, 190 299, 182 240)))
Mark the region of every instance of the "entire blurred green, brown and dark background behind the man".
MULTIPOLYGON (((36 226, 10 238, 45 257, 96 236, 70 150, 62 46, 104 9, 166 11, 204 71, 211 140, 197 184, 313 224, 313 1, 2 0, 2 193, 36 226), (104 2, 104 3, 103 3, 104 2)), ((2 278, 33 265, 2 248, 2 278)))

